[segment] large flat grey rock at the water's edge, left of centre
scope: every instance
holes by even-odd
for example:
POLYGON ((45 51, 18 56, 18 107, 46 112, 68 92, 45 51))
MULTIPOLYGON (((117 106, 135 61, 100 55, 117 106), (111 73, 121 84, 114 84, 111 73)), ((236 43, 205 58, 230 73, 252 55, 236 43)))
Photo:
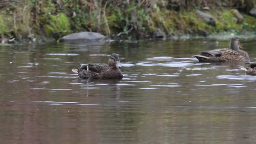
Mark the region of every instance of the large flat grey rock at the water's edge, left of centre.
POLYGON ((61 40, 63 41, 73 41, 73 40, 84 40, 84 41, 95 41, 101 40, 105 36, 97 32, 76 32, 63 36, 61 40))

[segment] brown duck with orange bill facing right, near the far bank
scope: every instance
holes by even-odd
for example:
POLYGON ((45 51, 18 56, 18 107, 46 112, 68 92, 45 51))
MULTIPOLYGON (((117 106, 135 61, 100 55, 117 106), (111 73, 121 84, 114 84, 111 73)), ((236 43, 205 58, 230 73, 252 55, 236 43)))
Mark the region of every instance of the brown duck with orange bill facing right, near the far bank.
POLYGON ((240 46, 239 38, 234 37, 229 44, 230 49, 216 49, 202 51, 200 55, 195 55, 199 62, 249 62, 249 55, 240 46))

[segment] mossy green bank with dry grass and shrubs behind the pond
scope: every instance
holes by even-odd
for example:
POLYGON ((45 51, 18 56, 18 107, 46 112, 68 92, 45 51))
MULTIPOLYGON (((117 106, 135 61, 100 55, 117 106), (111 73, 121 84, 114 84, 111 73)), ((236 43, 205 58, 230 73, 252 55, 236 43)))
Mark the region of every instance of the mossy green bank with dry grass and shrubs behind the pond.
POLYGON ((248 14, 254 6, 251 0, 0 0, 0 36, 59 39, 92 31, 150 38, 158 28, 167 36, 239 33, 256 30, 256 18, 248 14), (196 9, 205 7, 216 26, 196 15, 196 9), (234 22, 232 8, 242 13, 243 22, 234 22))

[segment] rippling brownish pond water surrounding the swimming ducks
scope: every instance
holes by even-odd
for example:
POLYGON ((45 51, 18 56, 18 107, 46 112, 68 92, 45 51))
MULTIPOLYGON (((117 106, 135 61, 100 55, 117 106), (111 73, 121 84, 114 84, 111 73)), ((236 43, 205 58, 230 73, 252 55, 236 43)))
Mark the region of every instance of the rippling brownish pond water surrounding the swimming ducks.
MULTIPOLYGON (((0 48, 0 140, 24 144, 234 144, 256 140, 255 76, 198 63, 228 40, 0 48), (120 54, 123 80, 72 68, 120 54)), ((256 42, 240 40, 251 61, 256 42)))

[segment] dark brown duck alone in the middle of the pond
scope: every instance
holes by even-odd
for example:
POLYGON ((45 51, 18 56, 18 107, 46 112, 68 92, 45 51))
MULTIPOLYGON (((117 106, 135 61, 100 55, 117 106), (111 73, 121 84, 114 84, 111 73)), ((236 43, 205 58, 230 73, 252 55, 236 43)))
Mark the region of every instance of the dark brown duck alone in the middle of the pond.
POLYGON ((119 54, 113 53, 108 59, 108 64, 90 63, 82 64, 80 68, 73 68, 72 72, 78 74, 82 79, 122 79, 123 74, 120 70, 119 54))

